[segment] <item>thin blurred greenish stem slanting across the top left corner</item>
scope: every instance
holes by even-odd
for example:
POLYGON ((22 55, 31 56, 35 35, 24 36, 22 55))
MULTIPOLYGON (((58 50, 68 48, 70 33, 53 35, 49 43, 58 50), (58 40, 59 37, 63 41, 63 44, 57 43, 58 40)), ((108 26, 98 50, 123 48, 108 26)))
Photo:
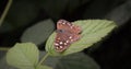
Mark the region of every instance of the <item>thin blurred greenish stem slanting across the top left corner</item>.
POLYGON ((3 13, 0 18, 0 25, 2 24, 3 20, 5 19, 5 15, 7 15, 9 9, 10 9, 10 7, 11 7, 11 3, 12 3, 12 0, 9 0, 7 5, 5 5, 5 9, 4 9, 4 11, 3 11, 3 13))

